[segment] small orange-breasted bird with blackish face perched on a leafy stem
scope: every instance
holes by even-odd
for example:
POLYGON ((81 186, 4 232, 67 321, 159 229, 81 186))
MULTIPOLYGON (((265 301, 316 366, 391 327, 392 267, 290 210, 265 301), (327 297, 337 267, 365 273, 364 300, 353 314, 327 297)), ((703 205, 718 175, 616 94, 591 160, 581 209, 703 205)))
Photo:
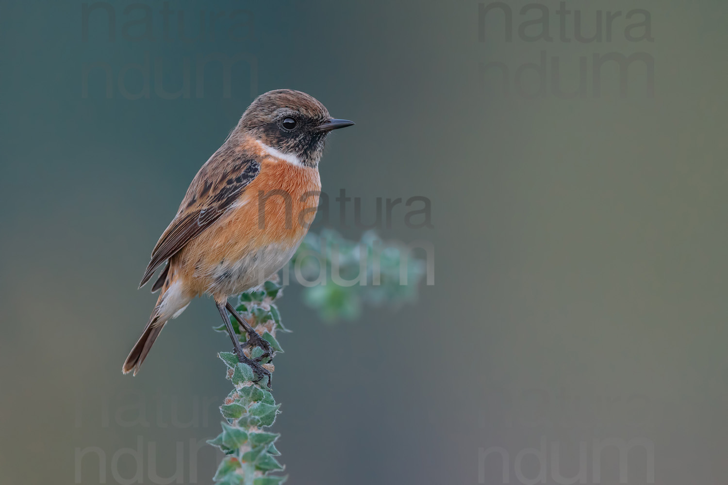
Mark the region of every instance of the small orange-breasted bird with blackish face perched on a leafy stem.
POLYGON ((268 342, 227 299, 264 283, 296 252, 316 214, 326 137, 352 124, 331 118, 314 97, 292 89, 266 92, 250 104, 199 169, 151 252, 139 287, 167 262, 151 289, 162 292, 124 374, 139 371, 167 321, 202 294, 213 296, 240 361, 258 375, 270 374, 242 352, 227 311, 245 328, 245 345, 270 353, 268 342))

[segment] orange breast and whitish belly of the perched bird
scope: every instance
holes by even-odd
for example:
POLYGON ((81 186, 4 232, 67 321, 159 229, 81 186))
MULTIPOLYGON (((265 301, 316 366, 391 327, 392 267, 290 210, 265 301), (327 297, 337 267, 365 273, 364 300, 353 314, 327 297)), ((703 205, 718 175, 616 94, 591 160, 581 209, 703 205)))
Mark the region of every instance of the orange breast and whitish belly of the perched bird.
POLYGON ((317 169, 264 159, 261 175, 232 210, 181 251, 177 264, 190 291, 221 300, 264 284, 306 236, 320 187, 317 169), (279 195, 261 202, 261 193, 279 195))

